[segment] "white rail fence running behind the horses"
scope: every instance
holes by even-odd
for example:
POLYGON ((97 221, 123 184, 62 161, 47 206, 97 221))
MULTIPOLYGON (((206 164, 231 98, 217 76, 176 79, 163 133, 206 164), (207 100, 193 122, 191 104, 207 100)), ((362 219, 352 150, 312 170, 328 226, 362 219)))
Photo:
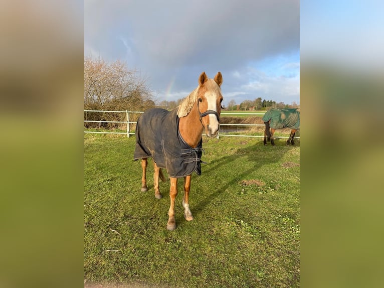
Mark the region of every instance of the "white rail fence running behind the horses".
MULTIPOLYGON (((136 121, 130 121, 129 119, 129 114, 133 114, 133 113, 144 113, 142 111, 129 111, 129 110, 125 110, 125 111, 105 111, 105 110, 84 110, 84 112, 106 112, 106 113, 125 113, 125 117, 126 117, 126 120, 125 121, 98 121, 98 120, 84 120, 84 123, 86 122, 96 122, 96 123, 125 123, 126 124, 126 127, 127 127, 127 130, 126 132, 106 132, 106 131, 84 131, 84 133, 100 133, 100 134, 126 134, 127 137, 130 137, 130 135, 134 135, 135 134, 135 131, 133 130, 133 132, 131 131, 130 129, 130 125, 129 124, 136 124, 136 121)), ((264 115, 264 113, 238 113, 238 112, 221 112, 220 115, 264 115)), ((132 117, 131 117, 132 118, 132 117)), ((220 126, 238 126, 238 127, 241 127, 241 126, 265 126, 264 124, 220 124, 220 126)), ((205 135, 205 134, 203 134, 205 135)), ((234 137, 263 137, 264 138, 264 135, 237 135, 237 134, 226 134, 226 133, 218 133, 217 135, 217 138, 219 138, 219 135, 220 136, 234 136, 234 137)), ((274 135, 274 138, 289 138, 288 136, 275 136, 274 135)), ((299 139, 300 137, 295 137, 296 139, 299 139)))

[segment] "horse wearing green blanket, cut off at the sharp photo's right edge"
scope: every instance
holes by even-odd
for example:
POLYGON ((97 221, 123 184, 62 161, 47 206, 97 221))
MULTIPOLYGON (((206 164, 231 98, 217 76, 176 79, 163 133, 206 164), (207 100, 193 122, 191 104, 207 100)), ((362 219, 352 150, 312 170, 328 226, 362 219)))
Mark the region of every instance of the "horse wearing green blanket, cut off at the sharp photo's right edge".
POLYGON ((264 130, 264 145, 267 145, 268 141, 271 141, 272 146, 275 146, 273 140, 273 134, 276 129, 291 128, 291 134, 287 140, 287 145, 291 143, 295 145, 293 138, 295 137, 296 131, 300 128, 300 110, 299 109, 288 109, 288 108, 273 108, 268 110, 264 116, 263 121, 265 124, 264 130))

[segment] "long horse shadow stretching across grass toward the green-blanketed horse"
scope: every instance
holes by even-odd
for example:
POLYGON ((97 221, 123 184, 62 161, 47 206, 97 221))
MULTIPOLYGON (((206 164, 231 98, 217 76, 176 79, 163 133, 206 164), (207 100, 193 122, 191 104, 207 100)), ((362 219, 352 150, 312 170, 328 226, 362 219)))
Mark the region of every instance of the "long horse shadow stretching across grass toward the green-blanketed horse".
MULTIPOLYGON (((276 141, 276 140, 275 140, 276 141)), ((243 141, 240 142, 240 144, 243 141)), ((295 145, 299 147, 300 145, 295 145)), ((194 215, 198 215, 206 209, 207 205, 213 202, 216 198, 225 192, 229 187, 232 187, 234 184, 239 183, 241 180, 247 179, 248 175, 259 170, 261 167, 271 163, 277 163, 281 160, 285 153, 291 150, 292 146, 286 146, 285 143, 282 145, 281 141, 276 141, 276 146, 272 147, 270 143, 267 146, 264 146, 263 142, 257 142, 255 145, 239 148, 235 153, 227 156, 223 156, 217 160, 212 161, 208 164, 202 174, 199 181, 206 181, 210 177, 217 177, 218 173, 216 170, 220 169, 223 171, 233 171, 230 174, 230 177, 222 176, 222 185, 214 190, 213 193, 208 194, 209 191, 205 191, 206 197, 205 200, 196 203, 193 208, 194 215), (280 142, 280 143, 279 143, 280 142), (251 165, 245 166, 237 165, 236 162, 240 161, 247 162, 251 165), (243 169, 242 169, 243 168, 243 169), (204 175, 204 176, 203 176, 204 175)), ((279 173, 278 171, 271 171, 271 173, 279 173)))

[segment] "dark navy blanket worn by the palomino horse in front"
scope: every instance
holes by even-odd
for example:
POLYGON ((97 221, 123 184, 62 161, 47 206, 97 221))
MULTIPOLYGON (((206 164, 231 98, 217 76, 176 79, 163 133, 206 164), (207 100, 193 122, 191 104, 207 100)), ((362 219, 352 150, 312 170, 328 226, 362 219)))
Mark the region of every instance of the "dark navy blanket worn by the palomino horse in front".
POLYGON ((190 147, 178 131, 177 108, 171 111, 153 108, 145 111, 136 124, 134 160, 152 157, 156 165, 165 168, 170 177, 180 178, 194 171, 201 175, 201 140, 190 147))

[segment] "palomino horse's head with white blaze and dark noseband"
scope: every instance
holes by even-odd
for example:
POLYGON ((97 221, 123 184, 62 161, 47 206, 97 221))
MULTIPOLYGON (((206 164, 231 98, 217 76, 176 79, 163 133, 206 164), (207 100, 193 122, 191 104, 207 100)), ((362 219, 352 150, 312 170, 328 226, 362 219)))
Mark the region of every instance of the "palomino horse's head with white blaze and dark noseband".
POLYGON ((199 77, 199 90, 197 97, 197 109, 206 134, 215 137, 220 128, 220 113, 222 109, 223 96, 220 86, 223 76, 220 72, 215 79, 208 79, 205 72, 199 77))

